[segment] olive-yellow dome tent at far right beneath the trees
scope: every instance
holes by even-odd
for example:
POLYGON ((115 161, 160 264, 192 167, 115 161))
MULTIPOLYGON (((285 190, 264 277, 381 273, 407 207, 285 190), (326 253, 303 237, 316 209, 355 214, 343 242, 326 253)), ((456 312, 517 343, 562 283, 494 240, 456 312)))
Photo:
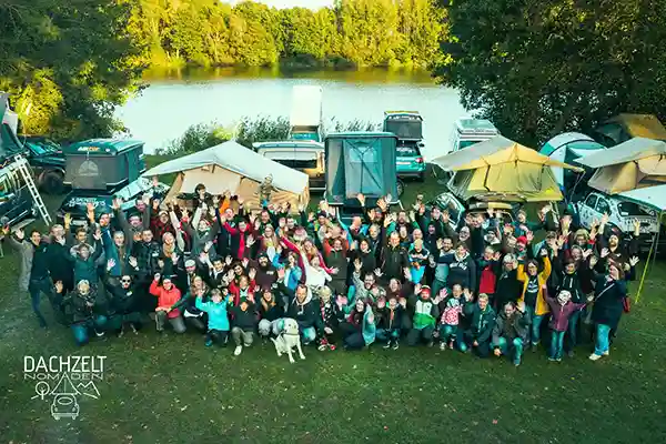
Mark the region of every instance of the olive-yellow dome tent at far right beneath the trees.
POLYGON ((666 128, 652 114, 618 114, 595 129, 595 139, 613 147, 632 138, 666 141, 666 128))

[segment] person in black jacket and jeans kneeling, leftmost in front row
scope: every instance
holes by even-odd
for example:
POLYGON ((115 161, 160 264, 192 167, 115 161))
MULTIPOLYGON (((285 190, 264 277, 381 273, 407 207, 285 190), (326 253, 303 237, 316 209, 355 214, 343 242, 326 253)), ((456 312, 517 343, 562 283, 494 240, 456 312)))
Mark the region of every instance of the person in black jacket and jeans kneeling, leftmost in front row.
MULTIPOLYGON (((62 294, 62 282, 56 282, 56 292, 62 294)), ((104 335, 102 329, 107 324, 107 316, 99 313, 97 293, 88 281, 79 282, 77 289, 69 294, 63 304, 68 305, 71 310, 71 329, 77 345, 85 345, 88 343, 90 330, 94 331, 98 337, 104 335)))

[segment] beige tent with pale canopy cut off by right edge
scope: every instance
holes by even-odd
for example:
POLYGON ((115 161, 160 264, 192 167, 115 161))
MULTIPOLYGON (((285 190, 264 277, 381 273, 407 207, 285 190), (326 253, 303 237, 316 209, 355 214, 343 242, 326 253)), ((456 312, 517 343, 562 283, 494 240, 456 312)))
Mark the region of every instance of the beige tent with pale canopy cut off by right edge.
POLYGON ((588 185, 608 194, 666 183, 666 142, 634 138, 578 163, 597 169, 588 185))

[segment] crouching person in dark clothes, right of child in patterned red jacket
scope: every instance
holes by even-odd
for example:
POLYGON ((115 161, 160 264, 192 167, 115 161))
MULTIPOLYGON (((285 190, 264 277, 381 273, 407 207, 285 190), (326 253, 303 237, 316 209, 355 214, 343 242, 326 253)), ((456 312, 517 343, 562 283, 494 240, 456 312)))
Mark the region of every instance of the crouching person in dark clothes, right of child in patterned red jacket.
POLYGON ((495 327, 495 312, 488 304, 488 296, 480 294, 477 302, 472 301, 472 294, 466 293, 464 313, 470 320, 467 330, 458 330, 457 344, 461 352, 466 353, 470 347, 478 357, 491 354, 491 334, 495 327))

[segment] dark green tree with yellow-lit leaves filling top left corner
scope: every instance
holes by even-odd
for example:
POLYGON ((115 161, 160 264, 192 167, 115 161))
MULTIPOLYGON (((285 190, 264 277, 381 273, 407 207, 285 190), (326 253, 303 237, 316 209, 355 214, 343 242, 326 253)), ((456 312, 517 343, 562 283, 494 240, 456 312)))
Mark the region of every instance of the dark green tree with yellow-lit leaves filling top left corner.
POLYGON ((129 31, 134 0, 0 3, 0 89, 28 133, 111 135, 115 105, 139 88, 147 42, 129 31))

